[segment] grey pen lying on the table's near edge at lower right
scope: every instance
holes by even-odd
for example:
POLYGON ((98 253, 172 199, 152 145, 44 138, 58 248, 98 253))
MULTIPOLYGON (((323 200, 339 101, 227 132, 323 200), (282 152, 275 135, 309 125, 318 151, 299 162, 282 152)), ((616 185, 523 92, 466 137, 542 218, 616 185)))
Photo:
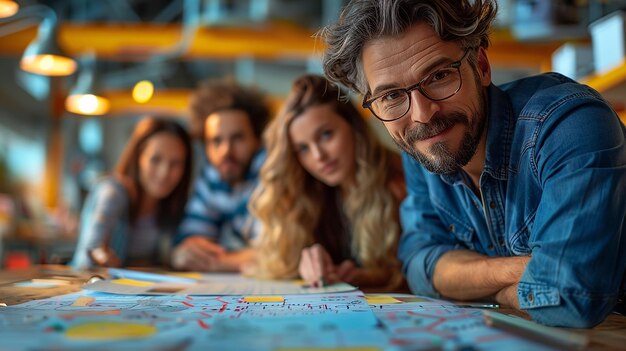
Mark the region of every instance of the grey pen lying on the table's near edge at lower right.
POLYGON ((485 323, 489 326, 559 349, 582 350, 589 343, 585 335, 546 327, 523 318, 493 311, 483 311, 483 315, 485 323))

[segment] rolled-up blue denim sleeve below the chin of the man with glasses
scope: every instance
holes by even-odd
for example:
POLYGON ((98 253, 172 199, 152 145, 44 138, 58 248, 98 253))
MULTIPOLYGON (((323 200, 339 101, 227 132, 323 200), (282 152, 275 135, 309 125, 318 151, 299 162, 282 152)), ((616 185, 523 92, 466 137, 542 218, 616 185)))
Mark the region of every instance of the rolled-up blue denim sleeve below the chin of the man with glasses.
POLYGON ((403 153, 408 196, 400 207, 402 237, 398 256, 414 294, 438 297, 432 284, 435 264, 444 253, 458 248, 430 201, 424 170, 403 153))

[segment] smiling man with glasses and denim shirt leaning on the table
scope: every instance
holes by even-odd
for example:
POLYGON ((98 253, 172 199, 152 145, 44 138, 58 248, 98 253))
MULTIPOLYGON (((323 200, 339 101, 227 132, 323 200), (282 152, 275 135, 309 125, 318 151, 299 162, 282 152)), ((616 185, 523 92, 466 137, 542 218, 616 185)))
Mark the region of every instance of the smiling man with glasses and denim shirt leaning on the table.
POLYGON ((491 83, 495 0, 352 0, 325 28, 329 79, 403 151, 399 255, 413 292, 494 299, 591 327, 626 268, 626 128, 589 87, 491 83))

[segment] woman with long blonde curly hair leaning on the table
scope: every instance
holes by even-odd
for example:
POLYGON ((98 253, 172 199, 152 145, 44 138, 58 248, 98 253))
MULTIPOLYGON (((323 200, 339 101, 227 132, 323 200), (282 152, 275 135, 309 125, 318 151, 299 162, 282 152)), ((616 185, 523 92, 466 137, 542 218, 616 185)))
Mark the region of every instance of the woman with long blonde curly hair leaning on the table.
POLYGON ((397 287, 400 157, 325 78, 297 79, 265 131, 250 210, 261 225, 257 275, 397 287))

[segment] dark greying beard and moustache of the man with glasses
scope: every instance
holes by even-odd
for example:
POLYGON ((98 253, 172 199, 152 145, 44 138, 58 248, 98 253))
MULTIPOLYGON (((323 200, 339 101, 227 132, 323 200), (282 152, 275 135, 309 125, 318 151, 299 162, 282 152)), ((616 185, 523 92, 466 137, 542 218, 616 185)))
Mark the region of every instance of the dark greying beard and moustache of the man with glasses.
POLYGON ((466 114, 453 112, 447 116, 435 115, 428 123, 416 124, 407 129, 405 141, 392 138, 399 148, 411 155, 428 171, 436 174, 451 174, 458 172, 474 157, 480 139, 487 123, 487 110, 484 94, 481 94, 479 111, 474 112, 474 120, 470 125, 466 114), (417 141, 431 138, 456 124, 464 125, 466 130, 461 139, 459 150, 453 153, 444 142, 437 142, 430 146, 426 155, 415 147, 417 141))

